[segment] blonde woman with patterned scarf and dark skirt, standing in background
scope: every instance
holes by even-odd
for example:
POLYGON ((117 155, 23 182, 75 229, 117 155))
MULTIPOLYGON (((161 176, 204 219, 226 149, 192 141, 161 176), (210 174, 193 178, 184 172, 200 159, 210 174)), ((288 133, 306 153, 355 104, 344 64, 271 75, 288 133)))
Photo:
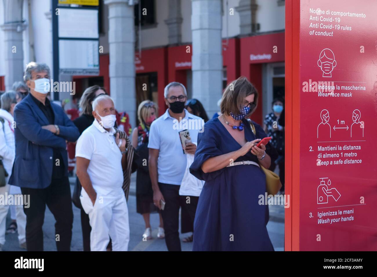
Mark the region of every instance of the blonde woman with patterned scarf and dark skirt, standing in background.
MULTIPOLYGON (((150 214, 159 213, 159 209, 153 204, 152 182, 149 177, 149 167, 147 164, 149 157, 148 137, 149 128, 157 116, 157 106, 150 100, 145 100, 139 104, 138 119, 139 126, 133 129, 132 146, 136 149, 138 158, 136 174, 136 212, 141 214, 145 222, 145 231, 143 238, 152 239, 152 229, 150 227, 150 214)), ((161 213, 159 213, 160 225, 158 227, 157 237, 165 237, 164 224, 161 213)))

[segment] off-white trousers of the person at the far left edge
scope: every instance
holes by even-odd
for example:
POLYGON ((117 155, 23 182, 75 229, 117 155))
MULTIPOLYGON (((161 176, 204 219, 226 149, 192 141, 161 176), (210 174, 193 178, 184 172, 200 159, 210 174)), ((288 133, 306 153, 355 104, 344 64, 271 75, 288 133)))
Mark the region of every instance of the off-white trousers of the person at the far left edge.
MULTIPOLYGON (((5 187, 0 187, 0 194, 4 195, 7 193, 9 195, 10 185, 5 187)), ((23 211, 23 205, 2 205, 0 204, 0 244, 5 243, 5 230, 6 230, 6 216, 8 214, 9 207, 15 209, 15 219, 17 222, 17 232, 18 232, 18 242, 26 242, 26 215, 23 211)))

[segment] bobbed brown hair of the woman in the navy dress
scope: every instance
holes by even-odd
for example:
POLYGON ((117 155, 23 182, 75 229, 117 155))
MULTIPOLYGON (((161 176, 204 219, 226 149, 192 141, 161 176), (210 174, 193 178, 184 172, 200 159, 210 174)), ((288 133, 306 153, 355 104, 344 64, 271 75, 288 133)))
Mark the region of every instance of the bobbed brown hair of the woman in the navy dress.
MULTIPOLYGON (((237 80, 234 80, 225 88, 222 94, 220 111, 224 115, 230 115, 230 113, 238 114, 240 109, 244 106, 245 97, 254 94, 254 103, 258 103, 258 92, 253 84, 251 84, 246 77, 241 76, 237 80)), ((256 109, 250 110, 246 116, 250 116, 256 109)))

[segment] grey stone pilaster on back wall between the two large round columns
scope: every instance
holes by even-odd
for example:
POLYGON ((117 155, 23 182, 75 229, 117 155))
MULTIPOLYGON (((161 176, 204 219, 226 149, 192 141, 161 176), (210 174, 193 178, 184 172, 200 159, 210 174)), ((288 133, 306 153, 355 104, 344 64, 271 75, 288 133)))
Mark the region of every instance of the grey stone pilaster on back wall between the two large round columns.
POLYGON ((169 44, 179 44, 182 41, 181 0, 169 0, 169 17, 165 20, 169 28, 169 44))

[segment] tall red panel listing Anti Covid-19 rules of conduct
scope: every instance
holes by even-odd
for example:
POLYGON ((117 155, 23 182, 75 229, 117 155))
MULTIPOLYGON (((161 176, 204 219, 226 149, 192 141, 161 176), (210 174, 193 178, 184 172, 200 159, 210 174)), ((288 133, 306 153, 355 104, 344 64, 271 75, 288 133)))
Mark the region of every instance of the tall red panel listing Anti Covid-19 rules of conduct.
POLYGON ((294 2, 292 250, 376 251, 377 1, 294 2))

